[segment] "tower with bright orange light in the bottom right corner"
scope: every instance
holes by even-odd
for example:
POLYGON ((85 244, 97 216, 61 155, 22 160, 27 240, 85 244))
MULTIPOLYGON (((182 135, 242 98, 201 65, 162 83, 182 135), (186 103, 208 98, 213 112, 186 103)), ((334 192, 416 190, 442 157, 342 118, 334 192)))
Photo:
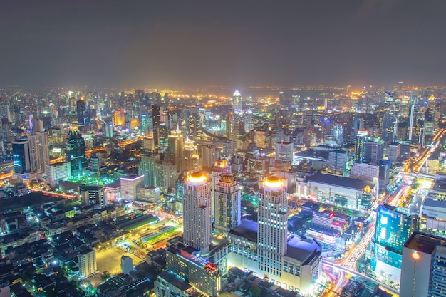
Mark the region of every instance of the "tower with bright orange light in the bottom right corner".
POLYGON ((414 232, 403 246, 401 297, 446 296, 446 240, 414 232))

